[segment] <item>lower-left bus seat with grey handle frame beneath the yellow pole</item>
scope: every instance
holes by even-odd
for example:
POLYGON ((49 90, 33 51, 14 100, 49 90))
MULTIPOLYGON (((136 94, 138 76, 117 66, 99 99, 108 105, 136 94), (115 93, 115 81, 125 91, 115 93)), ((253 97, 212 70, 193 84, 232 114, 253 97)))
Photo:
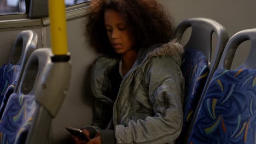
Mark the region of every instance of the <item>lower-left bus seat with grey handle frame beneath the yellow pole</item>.
POLYGON ((48 142, 51 119, 67 94, 71 69, 70 63, 52 63, 51 56, 51 49, 37 49, 28 59, 0 122, 3 143, 48 142))

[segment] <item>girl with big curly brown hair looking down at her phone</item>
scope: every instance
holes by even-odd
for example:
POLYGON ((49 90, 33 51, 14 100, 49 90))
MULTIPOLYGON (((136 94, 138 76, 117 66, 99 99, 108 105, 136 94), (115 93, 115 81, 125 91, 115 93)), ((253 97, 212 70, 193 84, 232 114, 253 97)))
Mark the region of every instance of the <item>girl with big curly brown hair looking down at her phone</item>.
POLYGON ((89 142, 174 143, 182 129, 183 48, 170 42, 171 18, 156 0, 93 0, 86 34, 94 123, 89 142))

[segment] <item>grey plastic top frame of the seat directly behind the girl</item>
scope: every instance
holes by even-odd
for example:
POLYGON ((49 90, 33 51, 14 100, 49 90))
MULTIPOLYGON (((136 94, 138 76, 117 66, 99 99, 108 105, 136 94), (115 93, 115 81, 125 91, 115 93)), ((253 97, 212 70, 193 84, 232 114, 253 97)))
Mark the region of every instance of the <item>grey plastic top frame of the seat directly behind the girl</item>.
POLYGON ((192 28, 191 36, 188 43, 184 46, 184 49, 196 49, 206 55, 208 59, 208 65, 210 68, 210 73, 208 78, 212 76, 214 70, 217 69, 220 58, 224 51, 225 45, 229 40, 228 33, 225 28, 218 22, 207 19, 207 18, 191 18, 182 21, 175 33, 173 39, 181 41, 185 30, 189 27, 192 28), (217 45, 214 52, 213 61, 212 57, 212 35, 213 33, 217 36, 217 45))

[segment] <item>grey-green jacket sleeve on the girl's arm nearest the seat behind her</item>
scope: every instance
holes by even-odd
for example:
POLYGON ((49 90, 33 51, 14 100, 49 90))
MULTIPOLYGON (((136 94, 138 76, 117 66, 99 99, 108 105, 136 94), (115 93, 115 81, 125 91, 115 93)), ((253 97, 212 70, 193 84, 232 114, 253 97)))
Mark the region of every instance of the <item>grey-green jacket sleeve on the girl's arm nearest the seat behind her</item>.
POLYGON ((183 123, 183 76, 172 57, 150 59, 144 80, 155 116, 115 127, 117 143, 174 143, 183 123))

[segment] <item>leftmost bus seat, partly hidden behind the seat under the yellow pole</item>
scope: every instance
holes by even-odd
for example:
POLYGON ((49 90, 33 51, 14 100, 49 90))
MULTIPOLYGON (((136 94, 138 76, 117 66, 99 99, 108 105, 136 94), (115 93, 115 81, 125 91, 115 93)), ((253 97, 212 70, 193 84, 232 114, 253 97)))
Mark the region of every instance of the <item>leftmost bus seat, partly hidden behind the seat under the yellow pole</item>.
POLYGON ((28 57, 37 49, 37 40, 37 33, 31 30, 18 34, 9 57, 9 64, 2 65, 0 69, 0 118, 10 94, 19 84, 19 76, 24 71, 28 57))

